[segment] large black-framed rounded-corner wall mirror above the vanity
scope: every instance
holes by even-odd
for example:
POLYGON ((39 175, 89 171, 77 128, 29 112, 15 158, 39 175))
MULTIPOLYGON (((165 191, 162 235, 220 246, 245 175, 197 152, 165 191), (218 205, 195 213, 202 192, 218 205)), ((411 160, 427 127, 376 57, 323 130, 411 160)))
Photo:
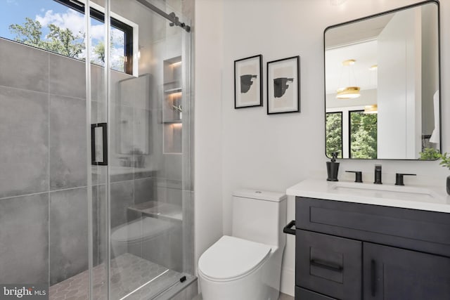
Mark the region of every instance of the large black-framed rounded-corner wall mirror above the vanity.
POLYGON ((439 3, 327 27, 324 48, 327 157, 435 159, 439 3))

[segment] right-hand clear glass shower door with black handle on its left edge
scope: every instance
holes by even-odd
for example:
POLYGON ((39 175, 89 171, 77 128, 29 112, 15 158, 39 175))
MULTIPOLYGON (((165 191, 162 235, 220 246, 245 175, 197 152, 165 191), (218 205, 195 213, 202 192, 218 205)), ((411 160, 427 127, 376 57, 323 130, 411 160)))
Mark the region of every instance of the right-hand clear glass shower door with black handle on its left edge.
POLYGON ((192 273, 190 37, 145 3, 105 1, 108 167, 98 167, 107 168, 98 207, 109 218, 99 219, 98 241, 109 299, 152 299, 192 273))

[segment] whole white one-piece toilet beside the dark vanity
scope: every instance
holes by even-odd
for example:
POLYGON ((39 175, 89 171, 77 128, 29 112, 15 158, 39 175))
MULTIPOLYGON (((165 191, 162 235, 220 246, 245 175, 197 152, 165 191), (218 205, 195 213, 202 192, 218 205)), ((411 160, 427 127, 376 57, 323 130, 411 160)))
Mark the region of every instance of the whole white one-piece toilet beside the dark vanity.
POLYGON ((277 300, 285 247, 286 195, 233 193, 232 234, 198 260, 203 300, 277 300))

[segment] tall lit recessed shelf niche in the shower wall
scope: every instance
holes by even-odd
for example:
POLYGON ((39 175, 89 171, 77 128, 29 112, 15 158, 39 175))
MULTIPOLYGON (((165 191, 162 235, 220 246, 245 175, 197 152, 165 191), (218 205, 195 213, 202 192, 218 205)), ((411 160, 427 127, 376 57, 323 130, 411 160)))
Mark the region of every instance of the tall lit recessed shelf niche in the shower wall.
POLYGON ((163 152, 181 154, 183 132, 183 89, 181 89, 181 56, 164 60, 164 85, 162 99, 163 152))

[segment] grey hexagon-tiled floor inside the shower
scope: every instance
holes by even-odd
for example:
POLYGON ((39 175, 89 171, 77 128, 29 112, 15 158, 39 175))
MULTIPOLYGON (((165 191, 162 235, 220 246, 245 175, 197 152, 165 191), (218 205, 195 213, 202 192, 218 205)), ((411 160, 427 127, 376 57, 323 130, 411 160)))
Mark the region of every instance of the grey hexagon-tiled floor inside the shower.
MULTIPOLYGON (((106 300, 106 270, 101 264, 93 268, 93 297, 106 300)), ((169 270, 133 254, 111 260, 111 299, 150 299, 179 281, 181 273, 169 270), (156 278, 158 275, 160 277, 156 278), (155 280, 153 280, 156 278, 155 280), (150 282, 150 280, 153 280, 150 282)), ((89 299, 89 270, 50 287, 50 300, 89 299)))

